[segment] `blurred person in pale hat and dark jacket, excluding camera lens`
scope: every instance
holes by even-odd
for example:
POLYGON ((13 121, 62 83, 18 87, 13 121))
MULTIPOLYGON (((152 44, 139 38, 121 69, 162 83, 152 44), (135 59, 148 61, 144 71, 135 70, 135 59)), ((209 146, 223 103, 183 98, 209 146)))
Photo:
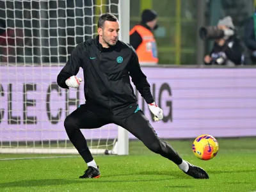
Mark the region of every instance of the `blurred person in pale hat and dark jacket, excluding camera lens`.
POLYGON ((237 37, 231 17, 219 20, 218 29, 228 31, 228 35, 214 40, 212 51, 204 58, 205 65, 243 65, 244 48, 241 40, 237 37), (230 33, 230 30, 231 33, 230 33))

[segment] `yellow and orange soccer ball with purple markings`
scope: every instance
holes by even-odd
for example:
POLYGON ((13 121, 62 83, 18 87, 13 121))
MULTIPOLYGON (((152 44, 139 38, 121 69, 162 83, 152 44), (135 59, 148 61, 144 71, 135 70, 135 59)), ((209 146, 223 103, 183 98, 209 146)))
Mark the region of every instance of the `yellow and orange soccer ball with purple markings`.
POLYGON ((217 155, 219 144, 213 136, 209 134, 202 134, 193 142, 192 150, 196 157, 207 161, 217 155))

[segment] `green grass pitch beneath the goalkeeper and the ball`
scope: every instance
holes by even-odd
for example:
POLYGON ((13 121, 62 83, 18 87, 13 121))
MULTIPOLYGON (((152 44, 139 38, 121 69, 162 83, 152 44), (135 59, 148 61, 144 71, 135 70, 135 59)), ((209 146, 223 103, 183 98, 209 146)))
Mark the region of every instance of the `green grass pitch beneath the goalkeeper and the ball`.
MULTIPOLYGON (((100 179, 77 179, 86 169, 80 156, 0 161, 0 191, 256 191, 256 138, 218 141, 220 151, 209 161, 193 155, 192 140, 169 141, 184 159, 202 166, 209 180, 193 179, 131 141, 129 156, 95 156, 100 179)), ((45 156, 54 155, 0 154, 0 159, 45 156)))

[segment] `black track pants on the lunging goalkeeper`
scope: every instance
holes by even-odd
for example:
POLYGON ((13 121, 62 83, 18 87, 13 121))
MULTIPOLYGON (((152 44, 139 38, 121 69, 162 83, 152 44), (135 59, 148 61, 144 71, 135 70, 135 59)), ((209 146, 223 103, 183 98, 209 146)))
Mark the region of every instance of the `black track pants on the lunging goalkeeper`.
POLYGON ((170 159, 175 164, 182 163, 179 154, 173 150, 171 145, 158 138, 143 112, 140 110, 134 112, 134 108, 127 108, 124 113, 113 115, 111 111, 99 108, 99 106, 83 104, 67 116, 64 126, 68 138, 86 163, 92 161, 93 157, 80 129, 95 129, 106 124, 116 124, 124 127, 141 140, 152 152, 170 159))

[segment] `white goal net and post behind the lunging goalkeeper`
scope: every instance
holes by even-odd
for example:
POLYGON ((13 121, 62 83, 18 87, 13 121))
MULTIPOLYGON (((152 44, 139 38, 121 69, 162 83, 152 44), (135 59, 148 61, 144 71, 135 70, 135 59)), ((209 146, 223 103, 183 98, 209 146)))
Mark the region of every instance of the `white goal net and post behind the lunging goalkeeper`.
MULTIPOLYGON (((83 83, 65 90, 56 78, 72 49, 97 35, 102 13, 118 17, 127 40, 125 7, 127 0, 0 1, 0 153, 77 154, 63 122, 85 102, 83 83)), ((93 154, 127 154, 122 127, 81 131, 93 154)))

